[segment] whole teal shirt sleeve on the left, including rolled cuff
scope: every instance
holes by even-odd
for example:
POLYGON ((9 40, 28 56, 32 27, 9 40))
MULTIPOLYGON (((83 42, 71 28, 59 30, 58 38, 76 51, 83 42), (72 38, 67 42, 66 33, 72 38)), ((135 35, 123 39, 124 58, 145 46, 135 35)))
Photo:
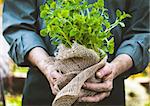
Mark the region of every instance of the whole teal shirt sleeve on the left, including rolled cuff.
POLYGON ((18 65, 26 65, 26 54, 34 47, 45 48, 37 34, 37 0, 5 0, 3 35, 10 44, 9 55, 18 65))

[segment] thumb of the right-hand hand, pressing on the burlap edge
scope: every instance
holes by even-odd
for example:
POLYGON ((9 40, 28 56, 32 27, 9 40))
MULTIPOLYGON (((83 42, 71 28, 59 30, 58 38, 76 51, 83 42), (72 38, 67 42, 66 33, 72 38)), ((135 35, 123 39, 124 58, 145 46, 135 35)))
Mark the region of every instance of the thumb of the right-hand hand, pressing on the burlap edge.
POLYGON ((102 69, 100 69, 96 72, 96 76, 101 79, 104 76, 107 76, 111 73, 112 73, 112 70, 111 70, 109 64, 107 63, 102 69))

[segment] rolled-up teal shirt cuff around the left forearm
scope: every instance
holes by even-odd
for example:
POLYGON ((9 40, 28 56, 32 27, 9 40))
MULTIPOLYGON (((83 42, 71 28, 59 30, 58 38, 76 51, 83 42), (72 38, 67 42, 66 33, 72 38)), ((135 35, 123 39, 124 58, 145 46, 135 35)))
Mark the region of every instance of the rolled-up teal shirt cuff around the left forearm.
POLYGON ((9 55, 19 66, 28 66, 26 55, 35 47, 47 50, 42 38, 33 31, 19 31, 19 37, 13 40, 10 45, 9 55), (21 33, 20 33, 21 32, 21 33))

